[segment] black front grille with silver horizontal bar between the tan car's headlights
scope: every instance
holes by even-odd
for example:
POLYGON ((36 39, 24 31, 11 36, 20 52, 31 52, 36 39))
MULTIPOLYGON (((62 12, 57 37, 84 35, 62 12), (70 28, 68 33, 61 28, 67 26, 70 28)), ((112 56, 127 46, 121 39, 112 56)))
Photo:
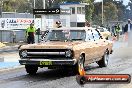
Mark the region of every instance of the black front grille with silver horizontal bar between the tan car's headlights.
POLYGON ((67 49, 28 49, 27 58, 32 59, 68 59, 67 49))

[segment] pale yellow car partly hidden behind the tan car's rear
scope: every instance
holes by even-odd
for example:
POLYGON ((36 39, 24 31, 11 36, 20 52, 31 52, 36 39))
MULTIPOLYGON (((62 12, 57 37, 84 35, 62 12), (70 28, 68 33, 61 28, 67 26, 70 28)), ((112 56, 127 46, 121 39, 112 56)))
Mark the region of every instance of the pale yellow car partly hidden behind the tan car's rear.
POLYGON ((109 32, 106 28, 104 27, 98 27, 97 30, 100 32, 100 34, 102 35, 103 38, 105 39, 109 39, 109 37, 111 36, 111 32, 109 32))

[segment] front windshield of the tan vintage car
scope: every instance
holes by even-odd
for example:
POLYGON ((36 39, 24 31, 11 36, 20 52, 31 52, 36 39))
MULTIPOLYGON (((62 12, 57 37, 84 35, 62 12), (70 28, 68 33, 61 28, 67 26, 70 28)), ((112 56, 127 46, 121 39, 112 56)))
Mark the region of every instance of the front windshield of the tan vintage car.
POLYGON ((46 41, 84 41, 84 30, 52 30, 45 37, 46 41))

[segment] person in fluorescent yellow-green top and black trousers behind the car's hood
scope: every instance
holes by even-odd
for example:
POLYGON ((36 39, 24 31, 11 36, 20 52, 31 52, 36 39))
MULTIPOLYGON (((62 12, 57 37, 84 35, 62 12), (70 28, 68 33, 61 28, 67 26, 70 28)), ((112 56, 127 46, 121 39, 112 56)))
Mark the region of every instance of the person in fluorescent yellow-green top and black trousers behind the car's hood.
POLYGON ((35 43, 35 32, 36 32, 36 28, 34 27, 34 24, 31 23, 30 27, 28 27, 26 30, 26 37, 28 44, 35 43))

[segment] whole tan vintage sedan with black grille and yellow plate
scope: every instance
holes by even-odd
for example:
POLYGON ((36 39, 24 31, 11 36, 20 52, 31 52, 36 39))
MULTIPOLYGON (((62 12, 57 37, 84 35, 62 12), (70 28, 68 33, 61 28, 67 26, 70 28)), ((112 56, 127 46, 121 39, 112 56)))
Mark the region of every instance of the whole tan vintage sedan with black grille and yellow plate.
POLYGON ((19 47, 21 65, 29 74, 35 74, 38 67, 78 68, 97 62, 99 67, 108 65, 113 43, 103 39, 100 33, 90 27, 50 29, 41 43, 19 47))

